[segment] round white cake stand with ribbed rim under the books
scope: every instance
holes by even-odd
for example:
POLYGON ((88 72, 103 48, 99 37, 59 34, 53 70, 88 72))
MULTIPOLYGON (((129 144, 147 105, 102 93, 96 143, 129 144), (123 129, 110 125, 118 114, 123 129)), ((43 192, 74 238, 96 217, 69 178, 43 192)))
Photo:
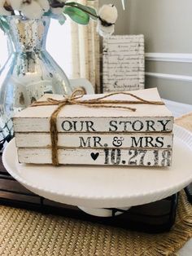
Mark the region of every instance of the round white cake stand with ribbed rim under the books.
POLYGON ((102 208, 158 201, 192 182, 192 134, 174 127, 172 167, 168 168, 24 165, 18 163, 14 139, 2 161, 28 190, 52 201, 79 205, 89 214, 107 216, 109 212, 102 208))

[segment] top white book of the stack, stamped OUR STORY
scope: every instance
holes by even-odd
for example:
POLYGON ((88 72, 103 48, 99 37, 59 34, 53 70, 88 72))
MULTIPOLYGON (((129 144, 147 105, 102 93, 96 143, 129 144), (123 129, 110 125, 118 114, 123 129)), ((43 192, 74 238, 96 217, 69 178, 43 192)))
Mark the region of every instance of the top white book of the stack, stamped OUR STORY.
MULTIPOLYGON (((148 101, 161 101, 156 88, 135 90, 133 95, 148 101)), ((79 100, 97 99, 102 95, 85 95, 79 100)), ((62 95, 44 95, 47 98, 63 99, 62 95)), ((135 100, 130 95, 112 95, 111 100, 135 100)), ((105 100, 105 99, 104 99, 105 100)), ((124 106, 125 104, 117 104, 124 106)), ((71 104, 63 107, 57 118, 59 133, 166 133, 172 131, 172 113, 165 105, 126 104, 136 111, 118 108, 89 108, 71 104)), ((25 108, 14 117, 14 129, 17 132, 49 132, 50 116, 58 106, 38 106, 25 108)))

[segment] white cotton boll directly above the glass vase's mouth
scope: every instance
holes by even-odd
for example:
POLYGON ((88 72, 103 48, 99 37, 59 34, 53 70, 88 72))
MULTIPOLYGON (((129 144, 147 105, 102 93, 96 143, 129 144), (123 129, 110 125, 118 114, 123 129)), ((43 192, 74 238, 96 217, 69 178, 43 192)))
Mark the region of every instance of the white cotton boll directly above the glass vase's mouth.
POLYGON ((49 11, 48 0, 9 0, 11 7, 21 11, 28 19, 40 19, 44 12, 49 11))

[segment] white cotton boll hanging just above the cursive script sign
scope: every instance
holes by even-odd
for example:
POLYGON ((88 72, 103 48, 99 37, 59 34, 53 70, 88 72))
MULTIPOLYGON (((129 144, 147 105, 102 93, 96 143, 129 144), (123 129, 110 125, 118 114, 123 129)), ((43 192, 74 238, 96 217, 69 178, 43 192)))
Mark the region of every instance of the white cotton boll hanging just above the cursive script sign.
POLYGON ((114 5, 104 5, 98 11, 98 26, 97 31, 100 36, 106 38, 114 33, 115 23, 118 14, 114 5))

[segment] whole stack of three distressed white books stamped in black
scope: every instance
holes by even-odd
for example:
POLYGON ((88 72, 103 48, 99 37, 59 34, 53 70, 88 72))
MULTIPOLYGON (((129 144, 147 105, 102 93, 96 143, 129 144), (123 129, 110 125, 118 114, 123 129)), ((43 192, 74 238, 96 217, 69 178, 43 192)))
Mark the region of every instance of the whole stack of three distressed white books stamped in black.
MULTIPOLYGON (((148 101, 161 101, 156 89, 131 93, 148 101)), ((99 96, 85 95, 78 100, 99 96)), ((44 95, 40 100, 48 97, 50 95, 44 95)), ((63 96, 51 95, 51 98, 60 100, 63 96)), ((107 99, 135 100, 122 94, 107 99)), ((57 118, 59 164, 171 166, 172 113, 164 105, 128 106, 137 110, 77 104, 63 107, 57 118)), ((56 108, 58 106, 29 107, 14 117, 21 163, 51 164, 50 116, 56 108)))

